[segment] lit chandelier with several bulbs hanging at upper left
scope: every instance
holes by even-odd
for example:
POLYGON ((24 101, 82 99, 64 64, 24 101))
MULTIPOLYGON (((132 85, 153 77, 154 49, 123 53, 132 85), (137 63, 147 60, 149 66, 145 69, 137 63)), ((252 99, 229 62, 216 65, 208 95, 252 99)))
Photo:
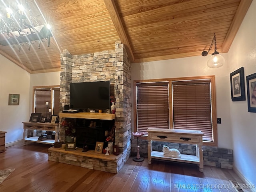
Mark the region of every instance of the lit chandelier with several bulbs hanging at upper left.
POLYGON ((4 6, 0 8, 0 45, 13 45, 13 47, 17 45, 20 51, 21 46, 27 44, 30 50, 31 44, 37 42, 40 49, 41 42, 47 40, 47 46, 50 47, 50 37, 52 37, 50 25, 39 24, 32 8, 28 5, 28 0, 23 1, 23 4, 22 0, 19 3, 10 0, 8 2, 15 4, 3 3, 4 6))

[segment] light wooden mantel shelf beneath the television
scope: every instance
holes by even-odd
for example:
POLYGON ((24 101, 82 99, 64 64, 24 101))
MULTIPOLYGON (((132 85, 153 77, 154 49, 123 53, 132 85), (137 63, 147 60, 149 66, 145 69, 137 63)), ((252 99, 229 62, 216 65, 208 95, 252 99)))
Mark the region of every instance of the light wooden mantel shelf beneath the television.
POLYGON ((107 114, 107 113, 80 112, 80 113, 59 113, 59 117, 60 118, 113 120, 116 118, 116 115, 107 114))

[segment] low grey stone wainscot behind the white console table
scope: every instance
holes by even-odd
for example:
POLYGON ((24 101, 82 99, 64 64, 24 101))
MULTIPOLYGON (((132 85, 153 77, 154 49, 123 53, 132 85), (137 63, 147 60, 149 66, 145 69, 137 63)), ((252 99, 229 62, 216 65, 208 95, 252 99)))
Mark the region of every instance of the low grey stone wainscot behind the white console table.
MULTIPOLYGON (((196 146, 188 144, 168 143, 153 141, 153 150, 162 151, 162 147, 168 145, 170 148, 176 148, 182 154, 196 155, 196 146)), ((140 155, 148 156, 148 141, 139 140, 140 155)), ((233 168, 233 150, 218 148, 212 146, 203 146, 204 165, 214 166, 225 169, 233 168)), ((136 155, 136 143, 132 142, 132 155, 136 155)))

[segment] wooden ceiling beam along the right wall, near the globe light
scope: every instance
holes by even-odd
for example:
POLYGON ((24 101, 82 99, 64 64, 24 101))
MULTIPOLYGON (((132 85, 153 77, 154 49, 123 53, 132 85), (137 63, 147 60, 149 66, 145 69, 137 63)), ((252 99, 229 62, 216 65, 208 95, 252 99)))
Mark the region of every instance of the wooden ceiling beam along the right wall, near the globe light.
POLYGON ((232 20, 232 23, 230 25, 230 28, 228 29, 226 38, 222 44, 222 53, 228 52, 251 3, 252 3, 252 0, 241 0, 238 6, 238 9, 236 11, 236 14, 234 16, 234 19, 232 20))

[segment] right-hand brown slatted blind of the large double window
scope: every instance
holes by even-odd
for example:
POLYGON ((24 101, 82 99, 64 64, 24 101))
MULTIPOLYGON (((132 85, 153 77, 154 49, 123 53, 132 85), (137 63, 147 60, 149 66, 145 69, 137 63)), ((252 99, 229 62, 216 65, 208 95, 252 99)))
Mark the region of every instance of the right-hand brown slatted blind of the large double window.
POLYGON ((172 82, 174 129, 200 130, 213 141, 211 80, 172 82))

